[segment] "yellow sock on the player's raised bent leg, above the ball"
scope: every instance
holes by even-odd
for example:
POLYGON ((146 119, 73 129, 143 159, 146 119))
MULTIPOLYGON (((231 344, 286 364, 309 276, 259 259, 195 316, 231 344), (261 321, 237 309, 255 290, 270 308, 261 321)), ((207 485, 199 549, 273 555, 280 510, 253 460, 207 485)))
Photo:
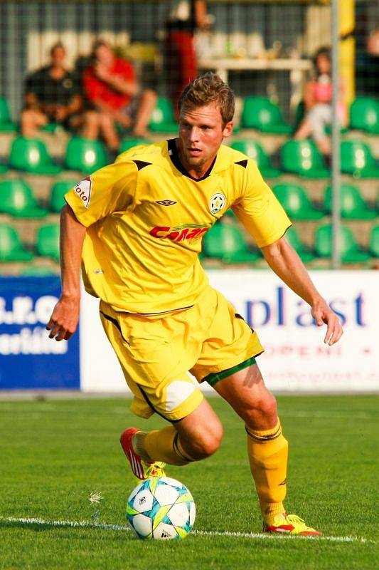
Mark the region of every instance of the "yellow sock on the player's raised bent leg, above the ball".
POLYGON ((173 425, 163 430, 138 432, 132 438, 134 450, 148 461, 163 461, 169 465, 187 465, 194 461, 183 450, 178 432, 173 425))

